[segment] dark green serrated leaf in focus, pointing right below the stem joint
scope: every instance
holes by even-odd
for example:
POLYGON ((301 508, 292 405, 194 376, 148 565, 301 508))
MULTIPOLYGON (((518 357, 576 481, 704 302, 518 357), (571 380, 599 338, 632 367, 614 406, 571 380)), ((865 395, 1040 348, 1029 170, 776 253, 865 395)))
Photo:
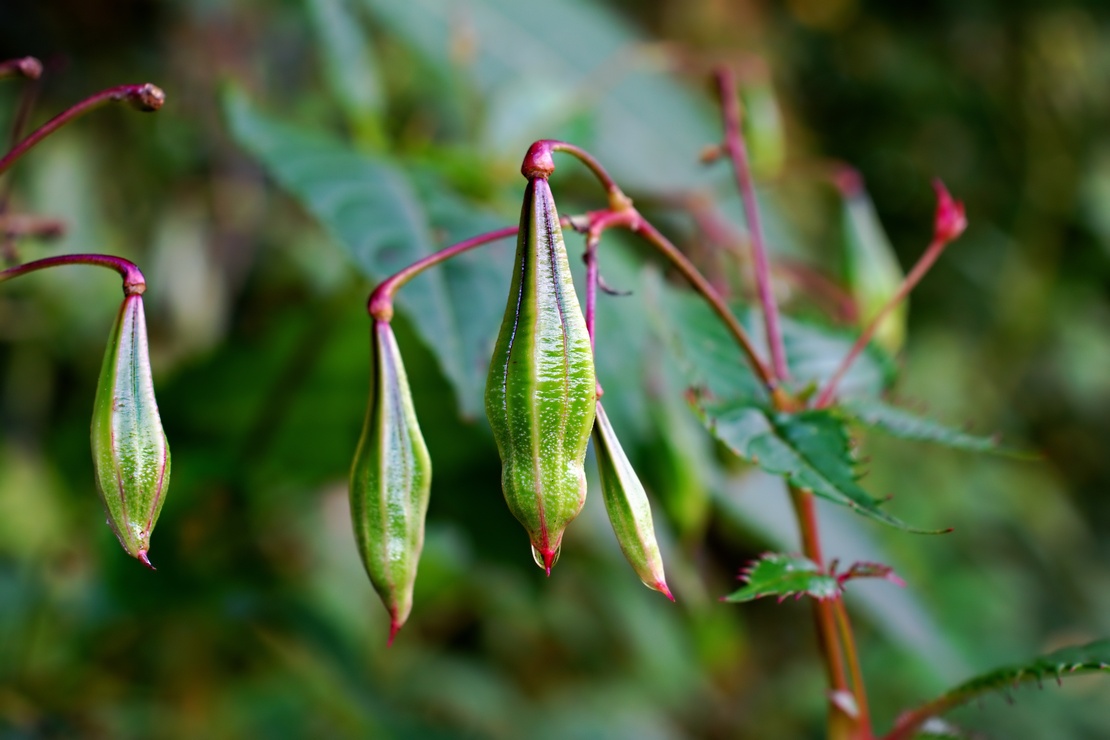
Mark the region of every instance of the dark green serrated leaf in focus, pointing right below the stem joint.
POLYGON ((729 449, 791 486, 899 529, 936 534, 890 516, 859 487, 848 432, 831 412, 784 414, 743 402, 699 404, 698 412, 729 449))

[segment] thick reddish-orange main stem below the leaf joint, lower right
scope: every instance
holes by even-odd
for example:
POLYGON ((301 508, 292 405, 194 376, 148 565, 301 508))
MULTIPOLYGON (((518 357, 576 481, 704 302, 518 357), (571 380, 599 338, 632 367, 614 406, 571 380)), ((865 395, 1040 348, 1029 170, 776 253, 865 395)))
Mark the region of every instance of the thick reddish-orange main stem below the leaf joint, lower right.
MULTIPOLYGON (((825 559, 821 555, 820 535, 817 527, 817 507, 814 501, 814 495, 791 486, 790 501, 794 504, 794 513, 801 534, 803 553, 824 570, 825 559)), ((871 730, 866 713, 867 699, 862 696, 862 680, 859 679, 855 687, 849 687, 846 679, 846 652, 848 653, 848 665, 854 667, 851 669, 854 676, 859 667, 850 627, 847 628, 847 640, 844 640, 844 636, 838 631, 837 605, 840 604, 842 608, 842 604, 839 597, 833 599, 814 599, 813 604, 814 620, 817 627, 817 642, 825 662, 825 673, 829 691, 833 696, 851 696, 857 708, 856 716, 854 717, 845 711, 841 703, 830 699, 828 706, 828 738, 829 740, 870 740, 871 730)), ((845 616, 845 625, 847 625, 847 615, 845 616)))

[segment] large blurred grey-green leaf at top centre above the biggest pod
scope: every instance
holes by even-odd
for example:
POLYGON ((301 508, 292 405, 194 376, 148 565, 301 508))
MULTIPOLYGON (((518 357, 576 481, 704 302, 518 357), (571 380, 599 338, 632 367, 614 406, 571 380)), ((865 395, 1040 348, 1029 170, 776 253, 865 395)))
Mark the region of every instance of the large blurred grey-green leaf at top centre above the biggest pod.
MULTIPOLYGON (((627 185, 672 192, 706 182, 698 153, 719 131, 704 103, 655 71, 659 52, 640 47, 642 37, 608 9, 585 0, 364 2, 438 68, 468 68, 484 93, 543 84, 587 100, 596 138, 577 143, 604 153, 627 185)), ((532 138, 545 135, 537 129, 532 138)))

